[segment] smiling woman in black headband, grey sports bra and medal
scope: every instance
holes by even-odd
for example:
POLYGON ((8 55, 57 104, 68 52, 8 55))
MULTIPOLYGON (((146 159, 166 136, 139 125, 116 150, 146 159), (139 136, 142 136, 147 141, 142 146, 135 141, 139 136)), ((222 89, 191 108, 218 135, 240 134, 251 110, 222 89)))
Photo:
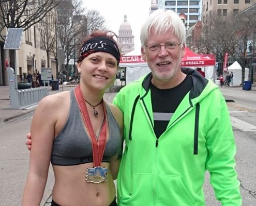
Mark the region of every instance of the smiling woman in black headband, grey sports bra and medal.
POLYGON ((116 77, 119 49, 111 31, 95 31, 81 46, 80 85, 43 98, 31 125, 33 147, 22 205, 39 205, 50 162, 51 205, 116 205, 123 114, 103 100, 116 77))

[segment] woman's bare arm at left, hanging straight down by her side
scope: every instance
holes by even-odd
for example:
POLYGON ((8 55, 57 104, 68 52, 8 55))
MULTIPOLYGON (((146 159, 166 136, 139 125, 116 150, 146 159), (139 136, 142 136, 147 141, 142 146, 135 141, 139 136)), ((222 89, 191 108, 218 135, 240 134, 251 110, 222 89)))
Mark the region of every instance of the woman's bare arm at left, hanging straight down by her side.
POLYGON ((22 198, 23 206, 40 205, 46 186, 55 135, 56 115, 54 114, 54 105, 56 103, 54 103, 54 99, 53 96, 43 98, 33 116, 31 125, 33 147, 22 198))

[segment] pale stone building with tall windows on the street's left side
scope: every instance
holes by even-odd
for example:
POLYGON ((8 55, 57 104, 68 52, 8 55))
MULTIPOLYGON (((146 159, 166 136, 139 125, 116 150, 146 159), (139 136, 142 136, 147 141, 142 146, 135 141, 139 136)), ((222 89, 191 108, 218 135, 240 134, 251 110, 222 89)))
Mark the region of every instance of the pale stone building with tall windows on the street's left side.
MULTIPOLYGON (((22 33, 19 49, 14 50, 14 71, 17 82, 22 80, 24 73, 41 72, 42 67, 50 67, 54 78, 58 77, 56 58, 56 18, 58 11, 72 8, 72 0, 62 1, 58 7, 49 11, 44 18, 22 33), (52 49, 49 45, 52 44, 52 49)), ((25 13, 24 13, 25 16, 25 13)), ((7 36, 8 29, 3 28, 1 35, 7 36)), ((5 59, 10 58, 10 50, 4 49, 5 41, 0 40, 0 85, 8 85, 8 74, 5 70, 5 59)))

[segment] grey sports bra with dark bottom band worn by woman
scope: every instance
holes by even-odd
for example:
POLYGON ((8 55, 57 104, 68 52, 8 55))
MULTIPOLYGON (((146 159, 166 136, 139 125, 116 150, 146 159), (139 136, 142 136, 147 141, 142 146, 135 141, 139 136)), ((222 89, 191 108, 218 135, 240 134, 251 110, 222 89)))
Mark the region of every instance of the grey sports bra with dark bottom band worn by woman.
MULTIPOLYGON (((107 104, 109 139, 103 154, 102 162, 122 151, 122 138, 119 125, 107 104)), ((63 129, 53 142, 51 163, 53 165, 78 165, 93 162, 92 143, 84 125, 74 90, 70 90, 70 109, 63 129)))

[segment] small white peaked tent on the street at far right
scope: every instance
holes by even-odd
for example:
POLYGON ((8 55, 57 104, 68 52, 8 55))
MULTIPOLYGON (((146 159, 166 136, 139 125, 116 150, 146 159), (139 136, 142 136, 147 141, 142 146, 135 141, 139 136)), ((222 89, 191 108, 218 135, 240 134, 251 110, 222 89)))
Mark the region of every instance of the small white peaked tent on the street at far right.
MULTIPOLYGON (((233 72, 233 86, 239 86, 242 84, 242 67, 240 64, 235 61, 233 64, 231 64, 228 67, 228 72, 233 72)), ((225 78, 225 77, 224 77, 225 78)), ((248 81, 249 79, 249 68, 245 68, 245 81, 248 81)))

